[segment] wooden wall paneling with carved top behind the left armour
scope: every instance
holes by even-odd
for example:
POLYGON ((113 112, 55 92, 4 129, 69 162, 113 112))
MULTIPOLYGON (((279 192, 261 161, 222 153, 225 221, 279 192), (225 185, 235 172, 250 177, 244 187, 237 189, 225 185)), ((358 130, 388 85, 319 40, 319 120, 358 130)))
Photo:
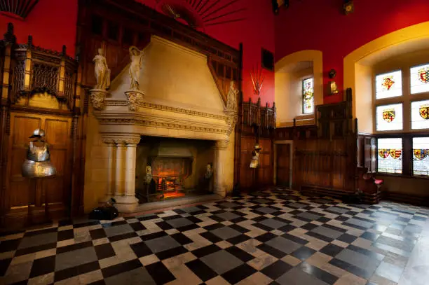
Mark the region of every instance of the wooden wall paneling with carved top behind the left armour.
POLYGON ((83 190, 71 185, 74 156, 71 118, 79 118, 81 106, 76 96, 77 62, 67 55, 65 46, 61 52, 46 50, 34 46, 31 36, 27 43, 15 44, 12 25, 8 26, 0 47, 7 47, 7 53, 1 52, 0 61, 8 63, 0 64, 5 75, 1 78, 0 227, 19 228, 27 220, 28 204, 34 208, 36 221, 44 216, 44 209, 34 206, 36 198, 43 201, 41 193, 34 193, 34 185, 21 174, 29 136, 36 128, 46 130, 46 140, 52 144, 51 161, 58 173, 42 185, 46 189, 50 215, 67 216, 71 193, 83 190), (6 76, 6 73, 10 74, 6 76))

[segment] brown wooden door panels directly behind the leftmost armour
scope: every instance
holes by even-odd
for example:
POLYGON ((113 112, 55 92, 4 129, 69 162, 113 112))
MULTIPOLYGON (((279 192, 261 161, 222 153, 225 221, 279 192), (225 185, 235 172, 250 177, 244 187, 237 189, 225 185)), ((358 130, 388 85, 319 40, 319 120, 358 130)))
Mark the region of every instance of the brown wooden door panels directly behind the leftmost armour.
MULTIPOLYGON (((32 205, 34 218, 43 216, 43 208, 34 207, 34 184, 22 177, 22 162, 27 156, 29 137, 36 128, 46 132, 50 149, 50 161, 57 169, 54 178, 43 181, 48 196, 51 218, 67 214, 71 198, 71 118, 46 116, 35 113, 11 113, 11 135, 8 144, 6 175, 6 226, 22 225, 27 218, 28 205, 32 205)), ((44 202, 44 197, 42 197, 44 202)))

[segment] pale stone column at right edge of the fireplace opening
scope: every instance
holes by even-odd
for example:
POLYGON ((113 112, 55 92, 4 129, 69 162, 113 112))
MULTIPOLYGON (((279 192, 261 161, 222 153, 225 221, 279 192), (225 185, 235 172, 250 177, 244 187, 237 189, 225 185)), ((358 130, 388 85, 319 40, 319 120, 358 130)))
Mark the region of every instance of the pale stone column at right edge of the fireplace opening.
POLYGON ((226 162, 226 148, 228 148, 229 141, 216 141, 214 145, 214 193, 222 197, 226 196, 226 183, 225 183, 225 162, 226 162))

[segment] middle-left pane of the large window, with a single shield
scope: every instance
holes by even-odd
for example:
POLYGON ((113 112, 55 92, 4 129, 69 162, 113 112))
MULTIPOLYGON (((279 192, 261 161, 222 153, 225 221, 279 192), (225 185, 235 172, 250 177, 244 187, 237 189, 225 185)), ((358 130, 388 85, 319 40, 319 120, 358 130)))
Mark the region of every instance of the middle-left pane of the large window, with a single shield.
POLYGON ((376 130, 402 130, 402 104, 377 106, 376 130))

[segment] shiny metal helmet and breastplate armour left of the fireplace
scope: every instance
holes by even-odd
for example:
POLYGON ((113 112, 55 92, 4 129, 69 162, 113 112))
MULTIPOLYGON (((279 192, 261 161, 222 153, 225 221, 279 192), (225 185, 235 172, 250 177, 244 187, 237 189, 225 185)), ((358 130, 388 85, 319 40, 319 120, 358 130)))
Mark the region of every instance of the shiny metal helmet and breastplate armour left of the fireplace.
POLYGON ((44 140, 45 131, 36 129, 29 137, 30 141, 27 159, 22 164, 22 176, 28 178, 42 178, 54 176, 57 173, 55 167, 50 163, 50 153, 48 144, 44 140))

